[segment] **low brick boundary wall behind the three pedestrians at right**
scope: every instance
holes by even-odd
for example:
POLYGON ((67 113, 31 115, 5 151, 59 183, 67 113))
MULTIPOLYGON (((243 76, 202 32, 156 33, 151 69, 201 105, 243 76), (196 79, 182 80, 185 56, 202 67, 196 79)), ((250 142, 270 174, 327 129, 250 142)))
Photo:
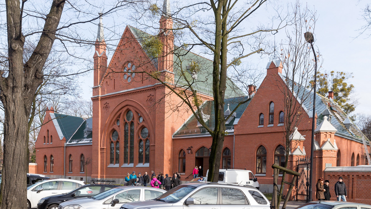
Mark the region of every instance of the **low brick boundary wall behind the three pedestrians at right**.
POLYGON ((330 181, 331 200, 336 201, 334 187, 340 176, 347 188, 348 202, 371 205, 371 166, 327 167, 324 170, 324 179, 330 181))

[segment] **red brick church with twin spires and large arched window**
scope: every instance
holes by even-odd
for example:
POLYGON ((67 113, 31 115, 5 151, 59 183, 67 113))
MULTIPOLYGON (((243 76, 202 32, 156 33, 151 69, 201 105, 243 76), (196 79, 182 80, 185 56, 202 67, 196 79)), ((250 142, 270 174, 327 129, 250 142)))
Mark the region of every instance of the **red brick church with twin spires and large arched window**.
MULTIPOLYGON (((182 174, 181 180, 192 173, 195 165, 203 167, 206 175, 211 136, 197 123, 184 105, 173 111, 172 105, 181 100, 171 90, 145 76, 141 71, 160 72, 181 86, 181 69, 191 62, 201 63, 201 71, 189 78, 196 79, 196 89, 203 99, 207 123, 213 124, 213 94, 211 71, 213 62, 183 49, 174 49, 171 32, 173 20, 167 15, 170 6, 165 0, 160 19, 163 43, 162 56, 153 59, 143 47, 149 34, 127 26, 108 63, 102 18, 95 42, 93 117, 80 118, 58 114, 49 108, 44 125, 37 137, 36 173, 51 177, 85 180, 116 179, 122 182, 126 173, 163 172, 182 174)), ((273 163, 284 161, 283 94, 277 88, 282 79, 282 64, 271 61, 260 88, 250 86, 253 98, 241 105, 226 121, 221 168, 251 170, 258 177, 260 189, 269 192, 273 183, 273 163), (279 79, 278 79, 279 78, 279 79), (263 88, 262 88, 263 87, 263 88)), ((182 71, 183 72, 183 71, 182 71)), ((225 111, 233 110, 243 93, 229 81, 226 89, 225 111)), ((306 90, 307 94, 312 94, 306 90)), ((290 148, 290 169, 296 170, 298 159, 309 157, 311 123, 316 120, 313 179, 325 177, 326 167, 365 165, 364 144, 359 129, 332 99, 316 94, 317 117, 312 118, 312 104, 304 104, 302 123, 293 134, 295 146, 290 148)), ((313 96, 311 96, 313 98, 313 96)), ((336 179, 336 176, 333 176, 336 179)), ((348 176, 351 179, 351 176, 348 176)), ((315 181, 314 181, 315 183, 315 181)), ((332 182, 335 183, 335 182, 332 182)), ((349 185, 349 184, 348 184, 349 185)))

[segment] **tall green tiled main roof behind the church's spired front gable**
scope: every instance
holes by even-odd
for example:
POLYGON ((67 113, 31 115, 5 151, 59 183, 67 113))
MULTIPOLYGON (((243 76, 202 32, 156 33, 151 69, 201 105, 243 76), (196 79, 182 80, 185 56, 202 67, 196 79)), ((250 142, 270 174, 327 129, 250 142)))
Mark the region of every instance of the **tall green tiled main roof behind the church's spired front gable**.
MULTIPOLYGON (((135 27, 128 26, 134 35, 138 38, 138 41, 141 42, 143 39, 150 37, 151 35, 145 33, 135 27)), ((157 64, 157 59, 153 59, 157 64)), ((206 59, 204 57, 198 56, 192 52, 188 52, 185 49, 180 49, 175 46, 174 50, 174 84, 177 86, 184 86, 187 88, 186 79, 182 75, 184 72, 185 77, 188 81, 193 82, 192 75, 187 71, 188 66, 191 65, 191 62, 194 61, 200 66, 200 72, 197 73, 197 79, 191 85, 197 92, 206 94, 209 96, 213 95, 213 61, 206 59)), ((225 93, 225 98, 240 97, 245 94, 230 80, 227 79, 227 88, 225 93)))

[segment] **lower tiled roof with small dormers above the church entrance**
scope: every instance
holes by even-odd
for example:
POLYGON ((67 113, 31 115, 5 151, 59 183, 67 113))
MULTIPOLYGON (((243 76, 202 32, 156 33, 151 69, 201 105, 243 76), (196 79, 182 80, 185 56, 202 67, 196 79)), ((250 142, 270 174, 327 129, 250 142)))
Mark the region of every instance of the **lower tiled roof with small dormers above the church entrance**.
MULTIPOLYGON (((234 97, 224 99, 224 111, 227 110, 229 105, 229 110, 232 111, 239 102, 248 99, 248 97, 234 97)), ((246 103, 240 105, 237 108, 236 117, 234 117, 228 124, 226 124, 226 130, 233 130, 234 129, 234 121, 239 120, 241 118, 243 112, 246 110, 247 105, 249 105, 251 100, 247 101, 246 103)), ((202 105, 202 112, 206 115, 210 115, 209 120, 206 121, 206 124, 209 128, 215 127, 215 117, 214 117, 214 101, 207 101, 202 105)), ((194 115, 174 134, 174 137, 177 136, 184 136, 184 135, 201 135, 201 134, 209 134, 203 126, 197 126, 197 119, 194 115)))

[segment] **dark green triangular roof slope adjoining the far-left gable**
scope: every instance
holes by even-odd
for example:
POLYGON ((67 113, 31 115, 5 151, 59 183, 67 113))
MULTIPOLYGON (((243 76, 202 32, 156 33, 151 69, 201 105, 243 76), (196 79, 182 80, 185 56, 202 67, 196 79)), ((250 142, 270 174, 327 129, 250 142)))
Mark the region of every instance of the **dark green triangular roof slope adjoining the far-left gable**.
POLYGON ((58 125, 60 127, 60 130, 62 131, 63 136, 66 138, 66 140, 69 140, 73 133, 80 127, 84 119, 80 117, 75 117, 71 115, 64 115, 64 114, 58 114, 54 113, 55 118, 58 122, 58 125))

